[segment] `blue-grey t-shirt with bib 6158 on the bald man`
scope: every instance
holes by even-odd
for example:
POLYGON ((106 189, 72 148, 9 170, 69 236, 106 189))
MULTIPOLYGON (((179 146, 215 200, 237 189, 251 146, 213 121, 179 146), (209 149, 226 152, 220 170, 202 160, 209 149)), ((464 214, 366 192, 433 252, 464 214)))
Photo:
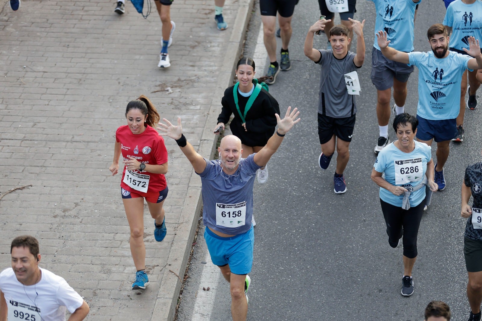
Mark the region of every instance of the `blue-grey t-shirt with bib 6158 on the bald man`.
POLYGON ((229 235, 245 233, 251 228, 254 177, 261 168, 254 162, 254 155, 241 159, 232 175, 223 172, 220 161, 204 159, 206 168, 199 176, 205 226, 229 235))

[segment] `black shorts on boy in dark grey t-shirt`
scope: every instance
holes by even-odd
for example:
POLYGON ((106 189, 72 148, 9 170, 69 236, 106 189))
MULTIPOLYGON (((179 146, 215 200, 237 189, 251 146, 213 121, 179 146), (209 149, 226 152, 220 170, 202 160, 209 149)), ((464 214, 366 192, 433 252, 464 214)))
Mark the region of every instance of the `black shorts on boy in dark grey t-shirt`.
POLYGON ((318 136, 320 137, 320 144, 328 143, 334 134, 345 142, 351 142, 351 136, 353 136, 353 129, 355 128, 355 116, 356 115, 345 118, 333 118, 318 113, 318 136))

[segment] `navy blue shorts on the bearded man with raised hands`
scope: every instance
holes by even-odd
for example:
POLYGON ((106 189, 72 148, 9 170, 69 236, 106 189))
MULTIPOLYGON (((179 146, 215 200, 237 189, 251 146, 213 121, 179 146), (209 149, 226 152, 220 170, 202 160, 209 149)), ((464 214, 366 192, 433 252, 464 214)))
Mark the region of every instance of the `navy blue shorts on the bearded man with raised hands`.
POLYGON ((457 136, 457 121, 454 119, 427 120, 417 115, 417 139, 428 141, 434 139, 437 143, 451 140, 457 136))

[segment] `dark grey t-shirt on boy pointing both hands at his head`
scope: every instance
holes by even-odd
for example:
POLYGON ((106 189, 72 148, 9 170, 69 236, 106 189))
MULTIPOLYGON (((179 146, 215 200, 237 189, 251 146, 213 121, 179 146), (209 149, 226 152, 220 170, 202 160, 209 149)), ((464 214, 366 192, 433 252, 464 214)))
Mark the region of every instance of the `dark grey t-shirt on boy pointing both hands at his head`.
POLYGON ((321 65, 318 112, 323 116, 345 118, 356 114, 355 95, 349 95, 344 75, 357 70, 351 51, 343 59, 336 59, 333 50, 319 50, 321 65))

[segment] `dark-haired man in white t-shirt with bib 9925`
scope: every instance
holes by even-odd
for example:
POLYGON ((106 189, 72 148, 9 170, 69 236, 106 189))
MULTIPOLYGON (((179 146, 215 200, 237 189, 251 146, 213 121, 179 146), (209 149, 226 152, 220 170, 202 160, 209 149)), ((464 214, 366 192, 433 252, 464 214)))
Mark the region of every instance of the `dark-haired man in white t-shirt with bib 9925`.
POLYGON ((39 267, 39 241, 16 237, 10 247, 12 267, 0 273, 0 321, 84 320, 89 306, 61 277, 39 267))

